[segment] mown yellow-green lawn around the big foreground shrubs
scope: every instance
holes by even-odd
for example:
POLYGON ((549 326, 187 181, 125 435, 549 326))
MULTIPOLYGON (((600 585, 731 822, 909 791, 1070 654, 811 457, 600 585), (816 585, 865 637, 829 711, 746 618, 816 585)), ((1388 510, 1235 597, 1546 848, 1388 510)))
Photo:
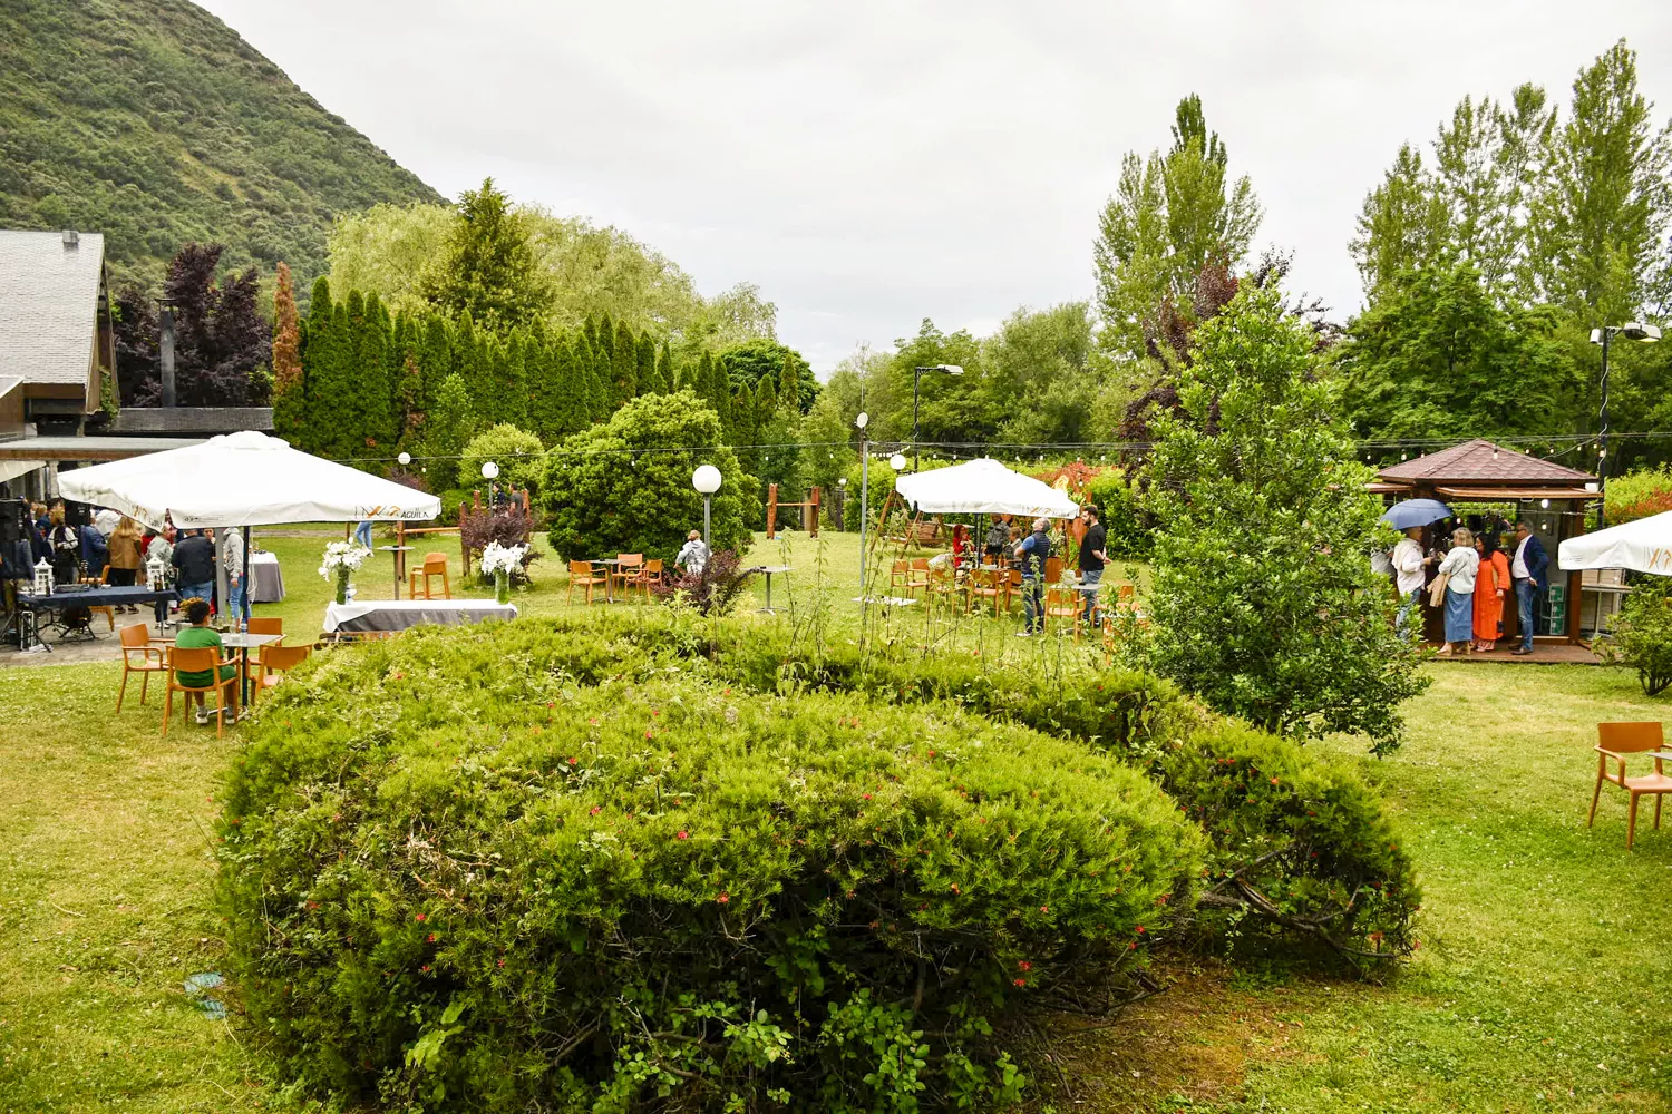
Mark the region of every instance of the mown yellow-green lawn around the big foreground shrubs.
MULTIPOLYGON (((268 541, 289 598, 259 611, 306 636, 329 596, 323 543, 268 541)), ((751 560, 779 563, 771 544, 751 560)), ((856 539, 824 553, 833 600, 851 600, 856 539)), ((813 591, 814 558, 794 534, 774 603, 813 591)), ((388 585, 378 571, 359 581, 388 585)), ((562 588, 552 561, 523 615, 567 606, 562 588)), ((1167 960, 1172 992, 1057 1041, 1080 1109, 1672 1111, 1672 817, 1659 833, 1640 817, 1627 853, 1622 798, 1605 793, 1585 828, 1595 723, 1672 718, 1672 701, 1622 670, 1426 670, 1396 757, 1318 743, 1399 813, 1425 887, 1415 960, 1384 985, 1167 960)), ((164 742, 154 703, 114 717, 119 673, 0 671, 0 1114, 294 1109, 259 1081, 261 1034, 182 992, 221 962, 207 830, 236 735, 176 725, 164 742)), ((1070 1109, 1062 1081, 1038 1077, 1040 1101, 1070 1109)))

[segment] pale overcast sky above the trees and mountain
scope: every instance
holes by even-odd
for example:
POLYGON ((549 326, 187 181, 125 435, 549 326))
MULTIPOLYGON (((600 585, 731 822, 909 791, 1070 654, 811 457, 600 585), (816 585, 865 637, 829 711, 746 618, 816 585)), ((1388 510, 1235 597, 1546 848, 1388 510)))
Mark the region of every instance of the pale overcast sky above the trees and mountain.
POLYGON ((1665 0, 553 3, 199 0, 448 195, 615 224, 704 294, 757 282, 821 372, 933 317, 1090 297, 1097 214, 1177 100, 1266 209, 1296 291, 1359 306, 1348 239, 1463 94, 1565 107, 1625 35, 1672 112, 1665 0))

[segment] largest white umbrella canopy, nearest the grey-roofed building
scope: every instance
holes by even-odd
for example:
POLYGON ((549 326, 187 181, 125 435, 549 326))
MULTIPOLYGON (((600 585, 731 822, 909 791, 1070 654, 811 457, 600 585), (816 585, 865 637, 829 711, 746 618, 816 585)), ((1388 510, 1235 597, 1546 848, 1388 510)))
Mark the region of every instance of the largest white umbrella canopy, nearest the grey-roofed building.
POLYGON ((109 506, 152 529, 202 526, 421 521, 441 499, 358 468, 293 449, 261 433, 59 474, 67 498, 109 506))

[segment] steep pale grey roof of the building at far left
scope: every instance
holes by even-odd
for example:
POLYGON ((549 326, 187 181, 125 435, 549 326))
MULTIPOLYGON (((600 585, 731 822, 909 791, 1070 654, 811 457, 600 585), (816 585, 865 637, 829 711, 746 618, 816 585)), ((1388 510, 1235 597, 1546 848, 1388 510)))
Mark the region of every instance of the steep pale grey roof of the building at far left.
POLYGON ((85 386, 104 281, 104 235, 0 229, 0 376, 85 386))

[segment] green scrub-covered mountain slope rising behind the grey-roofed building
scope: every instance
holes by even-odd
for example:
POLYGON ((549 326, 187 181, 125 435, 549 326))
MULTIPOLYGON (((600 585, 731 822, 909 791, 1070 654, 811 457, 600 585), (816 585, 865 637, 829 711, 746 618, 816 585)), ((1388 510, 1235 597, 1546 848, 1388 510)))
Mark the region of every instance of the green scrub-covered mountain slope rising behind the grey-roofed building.
POLYGON ((186 241, 326 271, 341 210, 440 195, 186 0, 0 0, 0 227, 105 232, 115 271, 186 241))

